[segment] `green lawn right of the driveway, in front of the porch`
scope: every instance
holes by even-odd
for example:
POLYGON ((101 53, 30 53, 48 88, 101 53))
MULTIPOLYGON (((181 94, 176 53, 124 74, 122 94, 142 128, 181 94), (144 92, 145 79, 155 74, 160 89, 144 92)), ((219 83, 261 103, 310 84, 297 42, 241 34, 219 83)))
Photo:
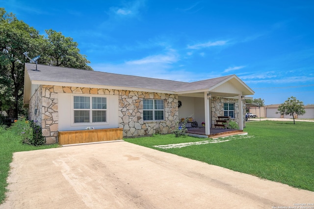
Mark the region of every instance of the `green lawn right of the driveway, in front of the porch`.
POLYGON ((174 135, 125 139, 131 143, 218 165, 296 188, 314 191, 314 122, 254 121, 246 123, 251 138, 163 150, 153 145, 205 139, 174 135))

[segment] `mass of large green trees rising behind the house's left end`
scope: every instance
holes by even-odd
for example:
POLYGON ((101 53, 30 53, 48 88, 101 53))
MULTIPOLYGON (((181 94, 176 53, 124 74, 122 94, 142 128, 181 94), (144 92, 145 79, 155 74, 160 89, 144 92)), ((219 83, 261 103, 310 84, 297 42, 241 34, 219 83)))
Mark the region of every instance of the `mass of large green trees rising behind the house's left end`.
POLYGON ((28 51, 29 57, 40 54, 38 64, 93 70, 72 38, 52 29, 46 33, 46 37, 40 35, 13 13, 0 8, 0 111, 8 117, 17 118, 23 111, 24 63, 28 62, 24 52, 28 51))

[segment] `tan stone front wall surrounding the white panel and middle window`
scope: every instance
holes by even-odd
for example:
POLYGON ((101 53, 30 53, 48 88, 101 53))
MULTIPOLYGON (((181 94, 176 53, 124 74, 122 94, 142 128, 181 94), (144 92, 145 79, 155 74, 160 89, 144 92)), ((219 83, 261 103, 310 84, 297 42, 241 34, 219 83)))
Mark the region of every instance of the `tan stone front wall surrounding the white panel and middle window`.
POLYGON ((42 85, 30 99, 29 118, 41 124, 47 144, 58 141, 57 93, 119 95, 119 128, 123 128, 124 137, 170 133, 179 119, 178 95, 175 94, 42 85), (164 100, 165 120, 143 120, 144 98, 164 100), (34 107, 38 109, 37 114, 34 107))

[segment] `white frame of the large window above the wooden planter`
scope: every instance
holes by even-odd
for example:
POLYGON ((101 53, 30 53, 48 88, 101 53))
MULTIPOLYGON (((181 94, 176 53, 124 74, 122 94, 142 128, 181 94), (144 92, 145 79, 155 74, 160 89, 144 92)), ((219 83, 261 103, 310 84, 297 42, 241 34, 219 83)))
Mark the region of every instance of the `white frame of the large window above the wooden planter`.
POLYGON ((71 96, 71 125, 72 126, 92 126, 92 125, 108 125, 108 110, 109 110, 109 99, 107 96, 102 95, 102 94, 95 94, 95 95, 91 95, 91 94, 73 94, 71 96), (84 97, 89 97, 90 100, 90 108, 89 109, 74 109, 74 97, 75 96, 84 96, 84 97), (92 97, 104 97, 106 98, 106 109, 101 109, 103 111, 105 111, 105 117, 106 117, 106 121, 105 122, 92 122, 93 120, 93 116, 92 116, 92 111, 93 110, 100 110, 100 109, 93 109, 92 108, 92 97), (74 122, 74 111, 76 110, 88 110, 89 111, 89 122, 74 122))

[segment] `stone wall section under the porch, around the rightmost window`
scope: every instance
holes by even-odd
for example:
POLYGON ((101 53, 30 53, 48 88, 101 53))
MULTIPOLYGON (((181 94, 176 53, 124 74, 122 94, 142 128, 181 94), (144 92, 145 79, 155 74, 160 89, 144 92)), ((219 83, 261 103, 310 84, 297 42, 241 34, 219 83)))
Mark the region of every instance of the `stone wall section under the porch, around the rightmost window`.
MULTIPOLYGON (((211 99, 211 127, 215 127, 214 124, 216 123, 216 120, 218 119, 218 116, 224 115, 224 103, 234 103, 235 104, 235 118, 232 119, 237 124, 239 124, 239 105, 237 99, 230 99, 230 98, 218 98, 213 97, 211 99)), ((243 109, 243 127, 245 127, 245 103, 242 106, 243 109)))

